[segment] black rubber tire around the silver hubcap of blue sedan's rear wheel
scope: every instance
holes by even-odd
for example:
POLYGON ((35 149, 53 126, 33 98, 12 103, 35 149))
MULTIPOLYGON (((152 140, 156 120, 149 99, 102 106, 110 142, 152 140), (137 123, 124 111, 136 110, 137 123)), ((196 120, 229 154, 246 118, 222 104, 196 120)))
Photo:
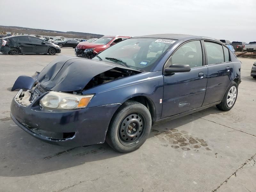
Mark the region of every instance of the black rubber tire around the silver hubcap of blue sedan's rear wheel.
MULTIPOLYGON (((236 82, 232 82, 232 84, 228 87, 227 91, 225 92, 225 95, 223 97, 223 99, 221 100, 220 104, 216 105, 216 107, 222 111, 229 111, 230 109, 232 109, 236 103, 236 99, 237 99, 237 93, 238 93, 238 89, 237 89, 237 84, 236 82), (230 106, 230 104, 228 105, 227 99, 231 99, 233 100, 233 96, 232 98, 228 95, 228 93, 230 93, 230 89, 231 87, 235 87, 236 88, 236 98, 233 101, 232 105, 230 106)), ((230 93, 231 94, 231 93, 230 93)))

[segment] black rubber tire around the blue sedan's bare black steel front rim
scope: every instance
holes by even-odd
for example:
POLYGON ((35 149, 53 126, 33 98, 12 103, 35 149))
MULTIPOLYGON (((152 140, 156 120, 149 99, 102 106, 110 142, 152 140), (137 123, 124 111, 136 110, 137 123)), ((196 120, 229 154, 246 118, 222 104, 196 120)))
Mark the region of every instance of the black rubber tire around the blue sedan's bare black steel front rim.
POLYGON ((132 100, 126 101, 120 108, 118 108, 118 110, 112 117, 108 127, 106 141, 111 148, 115 149, 118 152, 127 153, 127 152, 134 151, 137 148, 139 148, 147 140, 151 130, 151 125, 152 125, 152 119, 147 107, 145 107, 144 105, 136 101, 132 101, 132 100), (136 139, 134 138, 134 141, 136 142, 134 142, 130 146, 127 146, 127 145, 125 146, 122 143, 124 141, 122 142, 120 141, 121 139, 120 139, 120 136, 118 135, 119 129, 121 126, 121 122, 124 121, 124 119, 127 116, 134 113, 138 114, 144 119, 142 120, 144 122, 141 128, 142 131, 138 138, 136 139))

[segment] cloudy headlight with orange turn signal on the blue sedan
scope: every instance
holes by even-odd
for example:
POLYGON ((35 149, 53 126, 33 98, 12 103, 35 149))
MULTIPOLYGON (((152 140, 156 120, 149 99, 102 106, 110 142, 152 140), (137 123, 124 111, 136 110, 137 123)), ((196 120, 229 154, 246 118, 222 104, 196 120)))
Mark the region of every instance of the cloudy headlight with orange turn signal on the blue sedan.
POLYGON ((94 95, 74 95, 69 93, 51 91, 41 100, 43 108, 79 109, 85 108, 94 95))

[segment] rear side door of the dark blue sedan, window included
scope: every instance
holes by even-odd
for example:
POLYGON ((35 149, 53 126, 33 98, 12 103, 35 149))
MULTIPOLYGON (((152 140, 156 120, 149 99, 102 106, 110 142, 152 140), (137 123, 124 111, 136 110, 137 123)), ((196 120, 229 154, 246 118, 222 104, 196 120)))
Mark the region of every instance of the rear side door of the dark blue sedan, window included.
POLYGON ((234 78, 234 64, 228 48, 216 42, 205 41, 208 81, 203 106, 222 100, 228 85, 234 78))

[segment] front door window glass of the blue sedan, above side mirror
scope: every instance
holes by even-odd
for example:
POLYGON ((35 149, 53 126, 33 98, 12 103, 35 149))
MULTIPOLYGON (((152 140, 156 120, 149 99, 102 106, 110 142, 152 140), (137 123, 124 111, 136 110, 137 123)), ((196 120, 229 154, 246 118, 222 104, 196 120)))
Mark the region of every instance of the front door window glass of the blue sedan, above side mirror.
POLYGON ((171 64, 189 65, 190 68, 203 66, 203 54, 200 41, 191 41, 182 45, 171 57, 171 64))

